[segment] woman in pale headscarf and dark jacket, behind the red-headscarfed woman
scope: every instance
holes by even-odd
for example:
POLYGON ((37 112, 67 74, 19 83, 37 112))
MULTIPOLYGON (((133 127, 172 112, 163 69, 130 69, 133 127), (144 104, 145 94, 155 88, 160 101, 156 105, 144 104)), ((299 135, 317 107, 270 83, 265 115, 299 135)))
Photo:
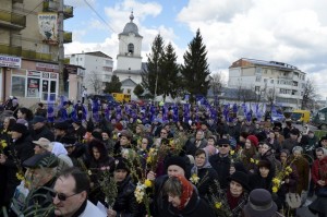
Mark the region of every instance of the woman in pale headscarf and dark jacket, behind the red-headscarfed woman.
POLYGON ((191 169, 191 182, 196 185, 202 198, 210 194, 209 190, 215 188, 215 181, 218 181, 218 174, 209 162, 208 152, 203 148, 197 149, 195 165, 191 169))

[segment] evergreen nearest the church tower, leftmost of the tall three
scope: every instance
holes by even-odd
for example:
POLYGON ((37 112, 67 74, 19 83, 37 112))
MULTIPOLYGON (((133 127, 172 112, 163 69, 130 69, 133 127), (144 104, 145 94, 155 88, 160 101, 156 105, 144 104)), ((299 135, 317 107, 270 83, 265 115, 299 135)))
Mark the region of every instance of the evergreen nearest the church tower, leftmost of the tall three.
POLYGON ((147 69, 142 72, 142 86, 153 96, 162 94, 162 55, 164 39, 160 34, 158 34, 152 45, 152 52, 147 55, 147 69))

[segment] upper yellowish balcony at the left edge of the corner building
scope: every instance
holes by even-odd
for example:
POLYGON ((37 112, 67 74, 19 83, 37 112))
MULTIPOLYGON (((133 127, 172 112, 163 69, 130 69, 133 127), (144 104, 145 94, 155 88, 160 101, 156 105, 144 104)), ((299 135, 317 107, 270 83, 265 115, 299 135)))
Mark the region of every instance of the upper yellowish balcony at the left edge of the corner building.
POLYGON ((0 10, 0 26, 21 31, 26 27, 26 16, 0 10))

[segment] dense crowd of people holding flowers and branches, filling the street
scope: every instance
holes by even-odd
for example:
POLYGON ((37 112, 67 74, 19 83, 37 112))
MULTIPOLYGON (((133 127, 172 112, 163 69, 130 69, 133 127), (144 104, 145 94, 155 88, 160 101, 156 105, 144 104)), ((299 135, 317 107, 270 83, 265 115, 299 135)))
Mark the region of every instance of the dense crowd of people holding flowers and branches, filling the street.
POLYGON ((190 105, 187 119, 185 106, 101 108, 39 104, 3 118, 9 216, 296 216, 307 198, 327 215, 327 136, 223 107, 190 105))

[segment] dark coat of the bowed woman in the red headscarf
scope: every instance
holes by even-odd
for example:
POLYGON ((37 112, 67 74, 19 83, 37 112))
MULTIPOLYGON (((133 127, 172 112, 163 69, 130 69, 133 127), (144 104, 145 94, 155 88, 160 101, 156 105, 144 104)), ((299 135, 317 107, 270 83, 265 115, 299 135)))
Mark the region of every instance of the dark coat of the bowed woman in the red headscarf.
POLYGON ((206 216, 206 217, 215 217, 213 209, 209 205, 202 200, 196 191, 196 188, 193 189, 193 194, 186 204, 186 206, 179 210, 178 208, 173 207, 168 200, 164 201, 164 208, 158 215, 159 217, 198 217, 198 216, 206 216))

